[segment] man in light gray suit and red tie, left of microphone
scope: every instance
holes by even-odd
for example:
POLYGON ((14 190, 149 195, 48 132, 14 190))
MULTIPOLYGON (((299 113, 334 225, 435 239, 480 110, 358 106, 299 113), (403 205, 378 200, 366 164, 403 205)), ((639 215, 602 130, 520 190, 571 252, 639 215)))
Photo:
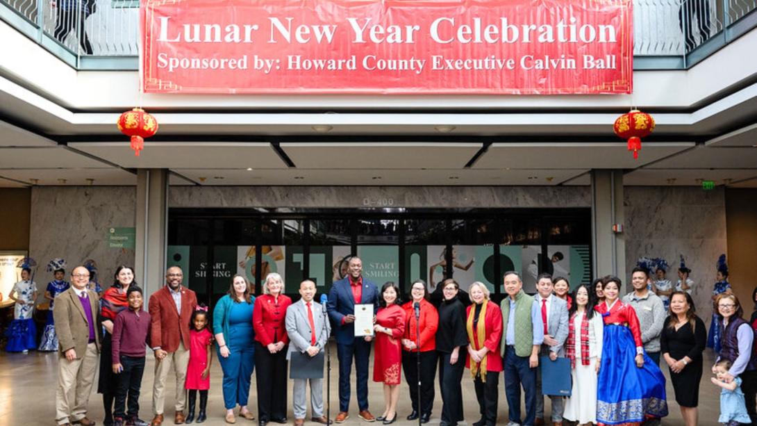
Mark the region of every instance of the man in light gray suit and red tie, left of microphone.
MULTIPOLYGON (((289 350, 287 359, 291 359, 292 353, 298 352, 310 358, 323 352, 323 348, 329 340, 331 324, 323 315, 324 307, 313 300, 316 296, 316 283, 304 280, 300 283, 300 299, 292 303, 286 310, 285 325, 289 335, 289 350)), ((299 365, 291 363, 291 374, 295 374, 294 368, 299 365)), ((307 381, 310 380, 310 409, 312 418, 320 424, 329 424, 328 418, 323 415, 323 359, 319 362, 319 377, 295 378, 294 379, 294 424, 302 426, 305 423, 307 403, 305 392, 307 381)))

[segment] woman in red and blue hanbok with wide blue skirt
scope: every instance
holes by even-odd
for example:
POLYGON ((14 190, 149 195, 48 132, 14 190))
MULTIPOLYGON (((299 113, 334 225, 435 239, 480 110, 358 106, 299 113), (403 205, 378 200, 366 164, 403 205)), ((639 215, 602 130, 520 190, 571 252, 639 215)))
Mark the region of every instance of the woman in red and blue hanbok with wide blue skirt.
POLYGON ((644 353, 636 311, 618 299, 621 280, 606 277, 602 287, 605 301, 594 308, 605 324, 597 422, 639 424, 665 417, 665 376, 644 353))

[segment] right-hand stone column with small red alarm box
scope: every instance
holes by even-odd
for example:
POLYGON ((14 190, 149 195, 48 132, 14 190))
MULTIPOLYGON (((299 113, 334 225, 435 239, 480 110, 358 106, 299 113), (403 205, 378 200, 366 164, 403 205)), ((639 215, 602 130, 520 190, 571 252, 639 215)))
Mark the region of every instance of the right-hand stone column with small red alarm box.
MULTIPOLYGON (((624 225, 623 171, 591 171, 591 233, 594 277, 616 275, 625 283, 625 236, 615 232, 624 225)), ((620 289, 621 294, 625 292, 620 289)))

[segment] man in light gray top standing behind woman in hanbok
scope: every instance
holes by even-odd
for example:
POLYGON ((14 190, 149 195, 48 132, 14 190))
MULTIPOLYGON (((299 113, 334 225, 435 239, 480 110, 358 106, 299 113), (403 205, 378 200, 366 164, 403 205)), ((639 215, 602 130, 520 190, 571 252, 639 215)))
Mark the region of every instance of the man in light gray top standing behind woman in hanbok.
POLYGON ((659 365, 660 363, 660 334, 665 324, 665 306, 662 299, 647 290, 646 284, 650 280, 649 271, 644 268, 634 268, 631 273, 631 285, 634 291, 623 297, 623 302, 634 307, 639 317, 641 327, 641 341, 646 355, 659 365))

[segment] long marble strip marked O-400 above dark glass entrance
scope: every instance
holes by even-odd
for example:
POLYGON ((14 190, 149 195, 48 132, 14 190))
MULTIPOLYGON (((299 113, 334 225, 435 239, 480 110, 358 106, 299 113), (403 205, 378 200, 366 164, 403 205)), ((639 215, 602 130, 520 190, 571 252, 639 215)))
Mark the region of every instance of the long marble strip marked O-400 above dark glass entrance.
POLYGON ((169 207, 590 207, 588 186, 172 186, 169 207))

